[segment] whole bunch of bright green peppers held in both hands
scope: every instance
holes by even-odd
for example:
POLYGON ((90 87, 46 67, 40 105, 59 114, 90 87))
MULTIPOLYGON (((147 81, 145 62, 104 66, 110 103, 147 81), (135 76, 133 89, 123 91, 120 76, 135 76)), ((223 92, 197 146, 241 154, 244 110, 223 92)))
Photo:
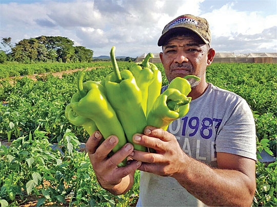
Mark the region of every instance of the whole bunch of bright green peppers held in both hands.
MULTIPOLYGON (((144 61, 133 63, 130 70, 120 71, 114 50, 112 47, 110 51, 113 72, 101 82, 83 82, 82 71, 77 78, 77 92, 65 109, 69 122, 83 126, 90 135, 95 130, 100 130, 104 139, 116 135, 119 142, 113 153, 127 142, 132 143, 133 134, 143 133, 147 125, 166 130, 172 121, 185 116, 191 101, 187 97, 191 90, 187 78, 199 80, 195 76, 175 78, 161 94, 162 74, 149 62, 152 53, 144 61)), ((148 150, 133 145, 136 150, 148 150)))

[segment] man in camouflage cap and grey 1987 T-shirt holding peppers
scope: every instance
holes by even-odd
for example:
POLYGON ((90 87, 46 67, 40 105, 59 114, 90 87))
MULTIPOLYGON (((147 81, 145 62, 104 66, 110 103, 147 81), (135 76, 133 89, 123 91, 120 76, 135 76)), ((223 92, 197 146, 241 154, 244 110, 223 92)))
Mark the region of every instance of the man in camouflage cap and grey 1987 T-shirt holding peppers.
MULTIPOLYGON (((190 110, 168 131, 148 126, 133 142, 155 153, 133 150, 128 143, 108 158, 118 139, 99 145, 95 132, 87 150, 98 181, 113 194, 123 194, 141 170, 137 206, 250 206, 255 192, 255 126, 246 101, 206 82, 206 67, 215 51, 206 19, 182 15, 167 24, 158 41, 165 74, 195 75, 191 80, 190 110), (99 146, 98 146, 99 145, 99 146), (117 168, 125 157, 133 160, 117 168)), ((162 89, 162 91, 165 88, 162 89)))

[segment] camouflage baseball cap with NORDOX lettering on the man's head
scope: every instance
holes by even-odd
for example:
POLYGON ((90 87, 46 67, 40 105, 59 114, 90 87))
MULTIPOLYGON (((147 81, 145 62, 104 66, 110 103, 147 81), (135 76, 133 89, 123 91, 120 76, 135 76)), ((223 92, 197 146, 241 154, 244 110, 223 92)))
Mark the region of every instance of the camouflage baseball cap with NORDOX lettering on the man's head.
POLYGON ((184 29, 196 33, 205 43, 211 44, 211 33, 208 21, 199 16, 184 14, 173 19, 165 26, 158 40, 158 46, 162 46, 173 33, 183 31, 184 29))

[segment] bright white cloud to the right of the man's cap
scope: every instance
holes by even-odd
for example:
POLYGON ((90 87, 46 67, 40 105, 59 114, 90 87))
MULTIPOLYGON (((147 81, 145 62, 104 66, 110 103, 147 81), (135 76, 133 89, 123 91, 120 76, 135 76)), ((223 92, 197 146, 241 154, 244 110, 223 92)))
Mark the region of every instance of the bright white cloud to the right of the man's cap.
POLYGON ((211 27, 212 47, 220 52, 276 52, 277 14, 238 11, 228 3, 205 14, 211 27), (267 47, 261 47, 267 45, 267 47))

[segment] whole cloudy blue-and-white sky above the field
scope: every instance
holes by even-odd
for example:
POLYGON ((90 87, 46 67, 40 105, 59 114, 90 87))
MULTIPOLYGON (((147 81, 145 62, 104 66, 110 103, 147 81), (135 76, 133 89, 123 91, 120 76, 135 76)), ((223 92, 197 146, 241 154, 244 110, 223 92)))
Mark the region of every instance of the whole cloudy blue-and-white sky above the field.
MULTIPOLYGON (((164 26, 182 14, 209 21, 216 52, 277 52, 277 1, 0 0, 0 37, 13 43, 63 36, 94 51, 94 57, 159 53, 164 26)), ((3 47, 2 47, 3 49, 3 47)))

